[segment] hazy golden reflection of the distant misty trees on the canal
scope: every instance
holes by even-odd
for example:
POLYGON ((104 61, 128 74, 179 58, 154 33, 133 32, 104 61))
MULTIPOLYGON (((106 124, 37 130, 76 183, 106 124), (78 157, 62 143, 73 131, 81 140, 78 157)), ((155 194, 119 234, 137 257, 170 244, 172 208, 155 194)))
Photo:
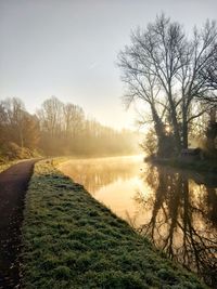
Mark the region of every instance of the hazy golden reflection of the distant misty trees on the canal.
POLYGON ((91 193, 118 180, 126 181, 139 171, 138 161, 133 161, 133 157, 74 160, 62 169, 91 193))

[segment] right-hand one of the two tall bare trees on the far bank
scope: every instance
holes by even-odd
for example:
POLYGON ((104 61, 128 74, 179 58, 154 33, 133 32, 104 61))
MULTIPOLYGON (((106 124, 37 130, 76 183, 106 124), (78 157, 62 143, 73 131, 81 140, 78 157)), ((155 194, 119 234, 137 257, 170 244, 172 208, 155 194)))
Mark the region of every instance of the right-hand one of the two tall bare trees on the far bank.
MULTIPOLYGON (((182 117, 182 143, 188 147, 189 126, 193 119, 203 115, 208 108, 204 105, 202 109, 192 109, 195 107, 195 100, 204 101, 209 97, 215 89, 214 83, 208 80, 208 69, 210 62, 214 61, 214 54, 217 43, 217 30, 215 22, 207 21, 201 31, 194 28, 193 39, 189 40, 184 49, 180 51, 181 69, 177 75, 180 82, 181 94, 181 117, 182 117), (201 77, 202 74, 204 77, 201 77), (209 84, 208 84, 209 82, 209 84), (209 96, 208 96, 209 95, 209 96), (194 102, 194 103, 193 103, 194 102)), ((215 60, 217 61, 217 58, 215 60)), ((213 65, 217 65, 213 63, 213 65)), ((196 106, 199 108, 199 106, 196 106)))

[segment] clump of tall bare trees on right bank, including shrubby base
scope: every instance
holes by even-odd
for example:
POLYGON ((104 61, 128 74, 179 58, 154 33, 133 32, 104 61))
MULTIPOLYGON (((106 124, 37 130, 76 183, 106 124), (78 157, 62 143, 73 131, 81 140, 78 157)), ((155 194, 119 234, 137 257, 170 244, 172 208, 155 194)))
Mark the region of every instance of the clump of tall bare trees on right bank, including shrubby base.
POLYGON ((195 27, 187 35, 182 25, 162 14, 145 29, 131 34, 131 44, 119 53, 118 66, 126 83, 126 105, 137 102, 145 106, 145 115, 140 111, 141 122, 151 123, 158 156, 179 155, 188 148, 189 139, 206 113, 212 118, 203 134, 209 147, 216 149, 215 22, 207 21, 201 29, 195 27))

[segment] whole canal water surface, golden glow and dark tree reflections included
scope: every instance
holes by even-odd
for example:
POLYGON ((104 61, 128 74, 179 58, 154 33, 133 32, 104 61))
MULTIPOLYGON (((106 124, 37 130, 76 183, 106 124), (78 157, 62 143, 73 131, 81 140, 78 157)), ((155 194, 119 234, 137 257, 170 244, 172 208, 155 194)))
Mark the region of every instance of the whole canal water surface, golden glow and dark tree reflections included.
POLYGON ((142 156, 74 159, 60 169, 217 288, 217 176, 153 167, 142 156))

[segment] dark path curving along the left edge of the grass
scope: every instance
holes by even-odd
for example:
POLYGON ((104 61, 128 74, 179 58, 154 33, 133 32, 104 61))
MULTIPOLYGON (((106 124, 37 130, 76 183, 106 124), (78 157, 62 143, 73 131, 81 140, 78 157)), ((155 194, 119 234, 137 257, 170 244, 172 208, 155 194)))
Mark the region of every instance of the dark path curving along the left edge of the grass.
POLYGON ((0 173, 0 289, 20 288, 24 197, 35 162, 22 161, 0 173))

